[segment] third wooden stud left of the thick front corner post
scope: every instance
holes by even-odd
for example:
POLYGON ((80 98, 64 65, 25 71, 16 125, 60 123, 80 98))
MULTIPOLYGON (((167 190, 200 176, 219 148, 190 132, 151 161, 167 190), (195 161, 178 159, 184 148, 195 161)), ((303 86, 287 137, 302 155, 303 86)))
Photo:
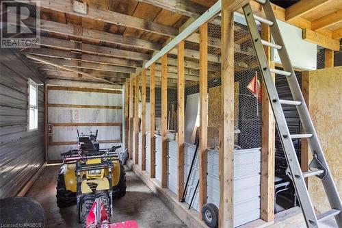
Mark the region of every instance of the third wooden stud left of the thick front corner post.
POLYGON ((168 54, 161 57, 161 187, 168 178, 168 54))

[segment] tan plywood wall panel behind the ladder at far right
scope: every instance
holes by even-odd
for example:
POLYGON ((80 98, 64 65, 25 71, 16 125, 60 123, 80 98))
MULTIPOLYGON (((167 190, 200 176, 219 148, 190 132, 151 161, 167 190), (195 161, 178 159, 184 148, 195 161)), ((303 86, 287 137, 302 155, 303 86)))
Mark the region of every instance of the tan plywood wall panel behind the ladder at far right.
MULTIPOLYGON (((308 91, 309 112, 342 197, 342 66, 309 71, 308 91)), ((320 179, 311 177, 308 185, 315 210, 330 210, 320 179)))

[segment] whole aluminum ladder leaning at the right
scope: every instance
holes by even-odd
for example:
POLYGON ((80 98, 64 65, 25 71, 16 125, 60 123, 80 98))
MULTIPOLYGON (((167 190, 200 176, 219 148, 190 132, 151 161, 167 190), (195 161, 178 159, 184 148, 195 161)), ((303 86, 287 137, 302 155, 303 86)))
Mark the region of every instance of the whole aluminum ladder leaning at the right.
POLYGON ((272 10, 272 6, 269 3, 269 0, 257 1, 261 3, 261 5, 263 5, 263 10, 265 12, 266 18, 254 15, 249 3, 247 5, 244 5, 244 14, 248 24, 248 29, 250 31, 250 36, 252 37, 254 50, 257 54, 259 66, 261 68, 263 81, 265 83, 265 89, 267 90, 269 102, 271 103, 274 118, 276 119, 278 133, 288 164, 288 172, 291 174, 295 192, 297 192, 298 194, 298 199, 300 201, 300 206, 302 208, 306 226, 310 228, 318 227, 319 221, 334 216, 339 228, 342 228, 341 199, 328 168, 326 157, 324 157, 321 145, 319 144, 315 127, 313 126, 311 116, 308 113, 308 108, 306 107, 302 91, 300 90, 297 78, 295 77, 295 73, 293 71, 289 55, 282 40, 276 18, 272 10), (261 40, 259 31, 257 29, 257 24, 254 20, 269 25, 275 43, 261 40), (278 50, 284 71, 269 68, 263 45, 278 50), (276 86, 271 77, 271 73, 285 75, 287 77, 287 82, 292 93, 293 101, 279 99, 278 93, 276 91, 276 86), (284 112, 282 111, 282 105, 295 105, 297 107, 300 121, 302 122, 302 126, 304 127, 304 130, 306 132, 305 134, 290 135, 284 112), (308 139, 308 143, 313 155, 313 160, 311 164, 309 164, 308 172, 302 173, 302 170, 300 168, 300 164, 298 162, 298 158, 292 143, 292 140, 295 138, 308 139), (306 184, 304 181, 304 178, 311 176, 320 178, 323 183, 326 196, 328 197, 330 206, 332 208, 328 212, 316 215, 315 211, 313 210, 313 205, 311 203, 311 199, 309 197, 308 190, 306 189, 306 184))

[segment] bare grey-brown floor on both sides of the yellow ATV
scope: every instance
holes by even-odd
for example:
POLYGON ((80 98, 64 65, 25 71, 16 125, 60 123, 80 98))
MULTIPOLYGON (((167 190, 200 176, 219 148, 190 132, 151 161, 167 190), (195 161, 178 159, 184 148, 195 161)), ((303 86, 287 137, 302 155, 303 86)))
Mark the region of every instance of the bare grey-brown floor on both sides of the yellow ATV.
MULTIPOLYGON (((81 227, 75 223, 76 206, 60 209, 56 203, 56 179, 60 165, 47 166, 26 197, 36 199, 45 210, 45 227, 81 227)), ((186 227, 131 170, 127 170, 127 194, 114 201, 114 220, 134 219, 140 228, 186 227)))

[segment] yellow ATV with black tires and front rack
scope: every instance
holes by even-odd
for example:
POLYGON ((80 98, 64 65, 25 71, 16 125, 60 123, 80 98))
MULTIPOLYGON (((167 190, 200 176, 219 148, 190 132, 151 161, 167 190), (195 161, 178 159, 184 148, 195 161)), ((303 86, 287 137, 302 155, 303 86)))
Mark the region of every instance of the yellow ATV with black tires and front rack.
POLYGON ((79 184, 83 186, 83 190, 88 191, 87 193, 90 193, 89 190, 92 193, 101 192, 104 188, 101 180, 108 179, 108 167, 98 166, 96 169, 96 166, 105 161, 109 161, 109 164, 113 165, 110 168, 112 198, 118 199, 126 194, 126 173, 116 153, 118 147, 100 150, 98 144, 96 144, 96 137, 97 131, 96 135, 79 136, 79 149, 62 153, 64 164, 61 166, 57 178, 56 197, 58 207, 68 207, 77 203, 77 176, 80 178, 79 184), (94 170, 77 172, 77 169, 83 164, 86 166, 93 165, 95 168, 94 170))

